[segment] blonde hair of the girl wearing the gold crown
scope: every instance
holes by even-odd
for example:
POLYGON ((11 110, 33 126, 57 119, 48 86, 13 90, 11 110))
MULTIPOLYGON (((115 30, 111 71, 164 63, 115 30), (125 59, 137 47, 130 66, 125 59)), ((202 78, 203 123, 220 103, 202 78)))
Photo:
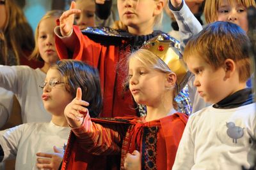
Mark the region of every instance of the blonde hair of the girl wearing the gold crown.
MULTIPOLYGON (((173 73, 171 69, 165 64, 163 60, 161 60, 156 54, 150 52, 149 50, 140 48, 136 52, 131 53, 131 55, 128 58, 128 62, 131 59, 137 59, 139 60, 143 65, 150 69, 156 69, 157 71, 160 71, 162 73, 173 73)), ((127 78, 127 84, 129 84, 129 78, 127 78)), ((175 87, 177 89, 177 85, 175 87)), ((173 107, 175 109, 178 108, 177 102, 174 100, 177 90, 173 90, 173 107)))

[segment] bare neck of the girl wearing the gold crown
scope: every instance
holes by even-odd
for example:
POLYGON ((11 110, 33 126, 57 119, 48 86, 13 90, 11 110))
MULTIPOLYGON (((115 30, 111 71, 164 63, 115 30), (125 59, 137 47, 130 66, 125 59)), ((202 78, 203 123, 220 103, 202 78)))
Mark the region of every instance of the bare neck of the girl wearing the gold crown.
POLYGON ((177 111, 173 108, 172 105, 169 107, 161 107, 161 108, 153 108, 147 106, 147 116, 145 120, 147 122, 150 122, 152 120, 158 120, 163 117, 167 117, 168 115, 172 115, 173 113, 176 113, 177 111))

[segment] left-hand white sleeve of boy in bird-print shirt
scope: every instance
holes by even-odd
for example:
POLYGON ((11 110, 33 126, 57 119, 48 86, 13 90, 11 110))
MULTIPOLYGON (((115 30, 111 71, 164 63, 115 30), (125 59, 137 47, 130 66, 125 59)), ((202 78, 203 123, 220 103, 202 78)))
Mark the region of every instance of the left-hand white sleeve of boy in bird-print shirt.
POLYGON ((189 117, 188 123, 186 124, 182 134, 172 170, 190 170, 191 167, 195 164, 195 145, 191 134, 191 122, 193 122, 193 120, 191 120, 192 117, 193 116, 189 117))

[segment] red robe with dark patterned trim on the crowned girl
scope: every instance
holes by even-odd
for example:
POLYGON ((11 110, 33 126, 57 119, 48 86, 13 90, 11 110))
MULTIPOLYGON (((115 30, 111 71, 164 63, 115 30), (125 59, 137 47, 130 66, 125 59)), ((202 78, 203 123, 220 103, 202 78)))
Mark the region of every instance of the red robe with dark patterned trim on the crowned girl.
POLYGON ((143 118, 122 118, 122 122, 92 118, 97 124, 87 120, 72 129, 61 169, 120 169, 126 153, 134 150, 141 153, 141 169, 172 169, 188 117, 175 113, 150 122, 143 118), (100 129, 99 133, 95 128, 100 129), (97 142, 89 136, 95 136, 97 142), (106 160, 104 155, 111 158, 106 160))

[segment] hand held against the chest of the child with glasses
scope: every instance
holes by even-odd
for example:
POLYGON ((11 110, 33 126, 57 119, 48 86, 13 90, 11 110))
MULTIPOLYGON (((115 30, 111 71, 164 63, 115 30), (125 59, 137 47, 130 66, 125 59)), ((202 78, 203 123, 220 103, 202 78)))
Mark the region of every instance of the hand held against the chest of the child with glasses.
POLYGON ((54 153, 36 153, 36 156, 39 157, 36 159, 36 167, 38 169, 59 169, 64 152, 63 150, 56 148, 56 146, 53 146, 53 150, 54 153))

